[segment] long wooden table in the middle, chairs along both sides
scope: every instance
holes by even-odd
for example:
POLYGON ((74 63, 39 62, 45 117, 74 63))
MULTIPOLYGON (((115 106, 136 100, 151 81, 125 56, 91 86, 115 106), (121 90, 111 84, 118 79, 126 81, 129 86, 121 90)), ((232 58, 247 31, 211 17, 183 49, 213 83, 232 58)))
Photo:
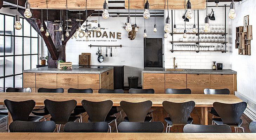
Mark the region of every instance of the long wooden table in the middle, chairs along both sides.
MULTIPOLYGON (((187 102, 195 101, 196 107, 201 107, 201 124, 208 124, 207 107, 212 107, 214 102, 238 103, 242 102, 235 95, 205 95, 205 94, 84 94, 84 93, 2 93, 0 94, 0 104, 4 100, 25 101, 34 100, 36 105, 43 106, 44 100, 66 101, 76 100, 77 105, 81 105, 82 100, 88 101, 113 101, 113 106, 120 106, 120 101, 143 102, 150 100, 152 106, 162 106, 163 101, 170 102, 187 102)), ((11 123, 11 115, 8 116, 11 123)))

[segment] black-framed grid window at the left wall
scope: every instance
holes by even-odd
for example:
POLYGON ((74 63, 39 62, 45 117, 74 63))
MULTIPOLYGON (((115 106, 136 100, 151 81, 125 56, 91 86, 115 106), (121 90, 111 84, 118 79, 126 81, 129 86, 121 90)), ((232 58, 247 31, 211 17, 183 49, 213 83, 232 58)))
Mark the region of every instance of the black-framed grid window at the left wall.
POLYGON ((0 91, 22 88, 24 69, 38 65, 38 33, 23 18, 14 29, 15 17, 0 13, 0 91))

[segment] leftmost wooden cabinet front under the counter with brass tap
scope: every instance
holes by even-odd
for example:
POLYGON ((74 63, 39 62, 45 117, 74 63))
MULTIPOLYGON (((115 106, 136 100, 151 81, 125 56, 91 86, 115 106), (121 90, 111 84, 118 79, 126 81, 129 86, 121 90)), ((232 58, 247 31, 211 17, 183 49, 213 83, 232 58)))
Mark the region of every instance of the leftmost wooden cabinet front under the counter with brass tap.
POLYGON ((143 73, 143 89, 152 88, 155 94, 165 93, 164 73, 143 73))

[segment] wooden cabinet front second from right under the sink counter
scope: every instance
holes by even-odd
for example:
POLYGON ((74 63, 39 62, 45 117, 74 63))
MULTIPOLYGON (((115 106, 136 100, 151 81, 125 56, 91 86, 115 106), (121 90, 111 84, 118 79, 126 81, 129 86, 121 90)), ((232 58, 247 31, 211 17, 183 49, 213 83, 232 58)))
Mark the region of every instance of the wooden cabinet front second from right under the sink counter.
POLYGON ((210 88, 209 74, 187 74, 187 88, 191 94, 204 94, 205 88, 210 88))

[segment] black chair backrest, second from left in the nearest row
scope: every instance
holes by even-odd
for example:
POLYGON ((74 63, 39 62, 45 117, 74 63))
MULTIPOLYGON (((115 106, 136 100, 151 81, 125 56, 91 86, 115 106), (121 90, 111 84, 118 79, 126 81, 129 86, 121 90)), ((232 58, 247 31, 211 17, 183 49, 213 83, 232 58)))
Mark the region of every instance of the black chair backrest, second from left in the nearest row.
POLYGON ((68 122, 64 126, 64 132, 108 132, 109 124, 107 122, 95 123, 76 123, 68 122))

